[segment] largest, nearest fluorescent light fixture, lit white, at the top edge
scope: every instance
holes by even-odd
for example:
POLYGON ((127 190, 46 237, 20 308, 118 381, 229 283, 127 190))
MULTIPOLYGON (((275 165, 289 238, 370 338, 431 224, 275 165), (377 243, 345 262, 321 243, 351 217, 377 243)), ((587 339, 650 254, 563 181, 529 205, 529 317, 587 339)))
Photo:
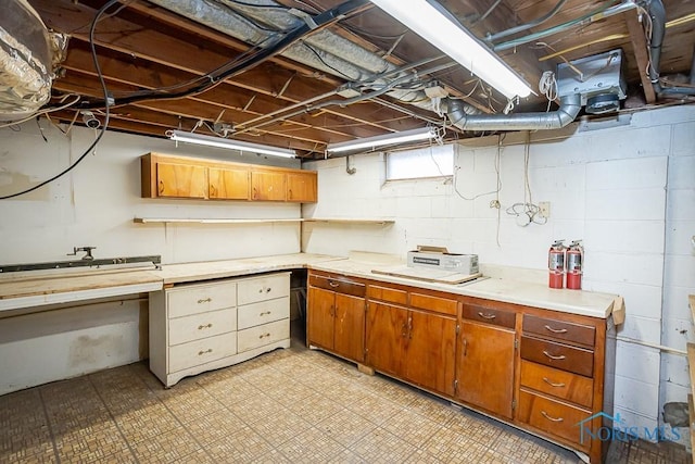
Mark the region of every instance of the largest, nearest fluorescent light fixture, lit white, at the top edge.
POLYGON ((531 93, 529 85, 492 50, 427 0, 371 2, 508 99, 531 93))

